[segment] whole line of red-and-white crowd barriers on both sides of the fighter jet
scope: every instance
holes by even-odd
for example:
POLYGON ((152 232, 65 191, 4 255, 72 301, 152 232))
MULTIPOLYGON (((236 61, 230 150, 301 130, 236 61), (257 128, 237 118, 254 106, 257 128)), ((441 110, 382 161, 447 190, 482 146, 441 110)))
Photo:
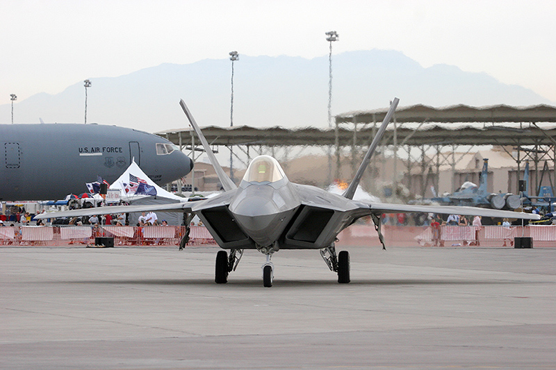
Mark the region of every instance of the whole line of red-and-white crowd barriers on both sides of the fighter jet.
MULTIPOLYGON (((179 245, 185 226, 3 226, 0 245, 94 245, 113 237, 114 245, 179 245)), ((513 246, 514 237, 532 237, 534 246, 556 246, 556 226, 441 226, 438 240, 430 226, 382 226, 391 246, 513 246)), ((188 245, 215 244, 204 226, 190 227, 188 245)), ((380 246, 371 225, 352 225, 338 235, 339 246, 380 246)))

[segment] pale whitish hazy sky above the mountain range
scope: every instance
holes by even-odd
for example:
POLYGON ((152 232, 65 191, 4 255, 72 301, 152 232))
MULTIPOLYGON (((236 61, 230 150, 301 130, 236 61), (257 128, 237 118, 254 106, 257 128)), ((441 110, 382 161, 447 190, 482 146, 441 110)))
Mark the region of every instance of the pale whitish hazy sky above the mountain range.
POLYGON ((556 102, 556 1, 0 0, 0 104, 163 62, 393 49, 556 102))

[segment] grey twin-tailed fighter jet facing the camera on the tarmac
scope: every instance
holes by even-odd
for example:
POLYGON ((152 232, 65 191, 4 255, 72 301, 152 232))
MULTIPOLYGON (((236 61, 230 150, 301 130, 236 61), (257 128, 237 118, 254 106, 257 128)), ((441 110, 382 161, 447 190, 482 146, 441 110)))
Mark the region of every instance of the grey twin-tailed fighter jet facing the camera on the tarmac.
MULTIPOLYGON (((331 271, 338 274, 338 283, 350 283, 350 255, 347 251, 336 253, 336 236, 357 219, 371 216, 384 248, 380 232, 380 216, 390 212, 434 212, 458 215, 482 215, 539 219, 538 215, 486 208, 459 206, 425 206, 389 203, 361 203, 353 196, 373 152, 386 131, 386 126, 398 106, 393 99, 388 114, 363 158, 352 183, 341 195, 332 194, 318 187, 291 183, 279 165, 268 155, 260 155, 247 167, 239 186, 225 174, 218 164, 211 147, 206 142, 188 107, 180 101, 191 126, 204 146, 215 167, 224 192, 213 198, 179 205, 149 205, 110 207, 104 212, 139 212, 148 210, 177 210, 199 216, 223 251, 218 251, 215 264, 215 282, 227 283, 229 273, 235 271, 245 249, 258 250, 265 255, 263 286, 271 287, 274 278, 272 253, 285 249, 315 249, 331 271), (229 254, 228 252, 229 251, 229 254)), ((87 212, 59 212, 41 215, 67 217, 70 215, 98 214, 99 209, 87 212)))

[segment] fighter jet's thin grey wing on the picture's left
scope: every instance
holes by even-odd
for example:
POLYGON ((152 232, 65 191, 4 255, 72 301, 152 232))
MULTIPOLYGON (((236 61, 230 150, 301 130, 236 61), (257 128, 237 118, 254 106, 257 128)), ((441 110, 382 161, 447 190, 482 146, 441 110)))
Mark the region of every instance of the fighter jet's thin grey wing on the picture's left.
POLYGON ((170 204, 154 204, 154 205, 113 205, 99 208, 81 208, 79 210, 69 210, 63 212, 49 212, 36 215, 35 219, 55 219, 58 217, 81 217, 92 215, 112 215, 114 213, 131 213, 131 212, 191 212, 191 209, 197 202, 187 203, 170 203, 170 204))

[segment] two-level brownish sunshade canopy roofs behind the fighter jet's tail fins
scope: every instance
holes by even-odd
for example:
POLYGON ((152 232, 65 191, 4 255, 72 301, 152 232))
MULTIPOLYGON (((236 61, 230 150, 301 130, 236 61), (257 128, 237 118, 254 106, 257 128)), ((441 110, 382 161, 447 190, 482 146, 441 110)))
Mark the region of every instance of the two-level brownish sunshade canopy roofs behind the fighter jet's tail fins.
MULTIPOLYGON (((336 123, 358 124, 379 122, 384 119, 387 108, 381 110, 347 112, 336 116, 336 123)), ((529 107, 489 106, 475 108, 471 106, 450 106, 432 108, 416 105, 398 108, 395 112, 398 123, 427 124, 415 131, 414 128, 398 127, 398 143, 420 146, 427 145, 553 145, 549 137, 556 137, 556 128, 537 128, 529 123, 556 122, 556 107, 539 105, 529 107), (523 128, 502 126, 499 123, 528 123, 523 128), (434 123, 464 123, 457 125, 438 126, 434 123), (473 124, 498 123, 496 126, 477 126, 473 124)), ((386 131, 383 144, 391 144, 393 125, 386 131)), ((336 135, 334 129, 320 128, 257 128, 251 126, 220 127, 207 126, 202 128, 209 143, 213 145, 261 145, 261 146, 322 146, 334 145, 336 135)), ((191 141, 190 128, 159 131, 156 135, 166 137, 174 144, 186 145, 191 141), (181 137, 181 139, 180 139, 181 137), (181 140, 181 141, 180 141, 181 140)), ((357 143, 363 144, 372 140, 374 131, 366 127, 357 131, 357 143)), ((338 127, 338 144, 353 144, 353 130, 338 127)))

